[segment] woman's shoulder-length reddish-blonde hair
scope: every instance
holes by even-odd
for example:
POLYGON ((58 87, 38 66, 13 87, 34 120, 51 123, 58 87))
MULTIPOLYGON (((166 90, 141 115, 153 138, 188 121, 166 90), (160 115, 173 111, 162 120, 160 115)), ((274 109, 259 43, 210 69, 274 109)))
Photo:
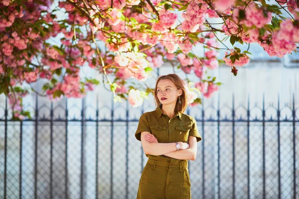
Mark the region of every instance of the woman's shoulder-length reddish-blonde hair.
POLYGON ((171 80, 177 89, 181 89, 182 95, 180 96, 180 100, 181 100, 182 104, 178 103, 178 98, 177 98, 177 101, 176 101, 176 104, 174 107, 174 114, 176 114, 178 112, 183 113, 185 111, 185 109, 187 108, 187 91, 185 89, 185 83, 176 74, 168 74, 168 75, 160 76, 156 81, 156 85, 155 85, 154 92, 153 92, 154 100, 155 100, 155 103, 157 106, 160 103, 158 96, 157 96, 157 86, 158 86, 158 83, 160 80, 171 80))

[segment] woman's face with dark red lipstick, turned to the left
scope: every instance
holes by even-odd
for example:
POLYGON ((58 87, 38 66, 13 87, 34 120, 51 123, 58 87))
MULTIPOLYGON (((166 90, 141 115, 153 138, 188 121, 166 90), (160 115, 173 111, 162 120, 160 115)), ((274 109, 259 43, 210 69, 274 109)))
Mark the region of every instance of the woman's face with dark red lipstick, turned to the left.
POLYGON ((182 91, 177 89, 171 80, 160 80, 157 85, 157 97, 161 104, 176 103, 182 91))

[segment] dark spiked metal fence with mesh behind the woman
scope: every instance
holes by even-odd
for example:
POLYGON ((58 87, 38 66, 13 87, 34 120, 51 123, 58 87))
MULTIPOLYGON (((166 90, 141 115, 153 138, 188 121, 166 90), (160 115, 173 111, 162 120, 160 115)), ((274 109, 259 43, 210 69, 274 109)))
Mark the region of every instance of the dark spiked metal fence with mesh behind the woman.
MULTIPOLYGON (((136 198, 147 159, 134 133, 152 106, 32 101, 24 121, 0 104, 0 198, 136 198)), ((294 97, 283 106, 203 103, 187 114, 203 138, 189 162, 192 199, 299 199, 294 97)))

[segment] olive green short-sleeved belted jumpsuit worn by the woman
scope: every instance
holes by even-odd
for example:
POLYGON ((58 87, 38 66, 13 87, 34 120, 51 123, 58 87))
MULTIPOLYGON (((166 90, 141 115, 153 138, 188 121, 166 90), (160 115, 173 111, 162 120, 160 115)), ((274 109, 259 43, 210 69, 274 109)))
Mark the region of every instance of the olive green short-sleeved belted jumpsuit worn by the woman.
MULTIPOLYGON (((140 117, 135 133, 140 141, 143 131, 153 134, 159 143, 188 142, 189 136, 195 136, 197 142, 201 140, 193 117, 179 112, 169 118, 159 106, 140 117)), ((147 157, 137 199, 191 199, 188 160, 164 155, 147 157)))

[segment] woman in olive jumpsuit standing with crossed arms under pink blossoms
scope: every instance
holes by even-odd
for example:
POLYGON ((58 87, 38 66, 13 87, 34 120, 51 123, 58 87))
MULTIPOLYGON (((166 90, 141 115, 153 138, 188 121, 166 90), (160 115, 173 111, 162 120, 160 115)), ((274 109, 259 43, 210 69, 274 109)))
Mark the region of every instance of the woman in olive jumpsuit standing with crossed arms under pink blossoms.
POLYGON ((135 136, 149 158, 137 199, 190 199, 188 160, 195 160, 201 140, 187 106, 184 82, 176 74, 160 76, 155 85, 157 108, 144 113, 135 136))

